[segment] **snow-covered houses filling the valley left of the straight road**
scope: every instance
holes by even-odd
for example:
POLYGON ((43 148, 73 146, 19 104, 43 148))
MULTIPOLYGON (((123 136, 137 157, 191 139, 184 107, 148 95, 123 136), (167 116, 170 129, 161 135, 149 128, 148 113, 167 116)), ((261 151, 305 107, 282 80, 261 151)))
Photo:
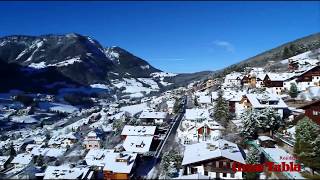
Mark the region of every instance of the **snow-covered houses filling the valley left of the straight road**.
POLYGON ((171 92, 165 92, 128 108, 122 109, 119 102, 103 104, 102 109, 72 112, 43 129, 13 130, 20 138, 13 139, 12 135, 0 142, 2 149, 10 149, 11 144, 15 149, 15 154, 0 156, 1 172, 9 179, 129 179, 140 159, 155 156, 159 150, 171 126, 175 101, 171 92), (74 121, 77 116, 83 118, 74 121), (137 119, 139 125, 129 125, 132 119, 137 119), (123 122, 122 129, 115 130, 112 125, 116 121, 123 122), (118 134, 115 131, 120 131, 119 143, 106 148, 105 139, 117 139, 109 136, 112 132, 118 134), (69 157, 78 157, 78 163, 71 163, 69 157), (42 170, 37 167, 41 158, 46 162, 42 170), (34 166, 35 173, 29 172, 34 166))

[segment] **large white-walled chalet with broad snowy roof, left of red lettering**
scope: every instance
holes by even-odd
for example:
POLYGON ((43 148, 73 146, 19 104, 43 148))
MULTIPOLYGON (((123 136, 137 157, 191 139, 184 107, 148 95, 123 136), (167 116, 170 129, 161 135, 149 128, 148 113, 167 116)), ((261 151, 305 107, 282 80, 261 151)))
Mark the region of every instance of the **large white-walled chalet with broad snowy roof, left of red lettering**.
POLYGON ((201 174, 210 179, 243 179, 242 172, 232 170, 233 163, 245 164, 237 144, 219 139, 187 145, 182 160, 183 175, 201 174))

